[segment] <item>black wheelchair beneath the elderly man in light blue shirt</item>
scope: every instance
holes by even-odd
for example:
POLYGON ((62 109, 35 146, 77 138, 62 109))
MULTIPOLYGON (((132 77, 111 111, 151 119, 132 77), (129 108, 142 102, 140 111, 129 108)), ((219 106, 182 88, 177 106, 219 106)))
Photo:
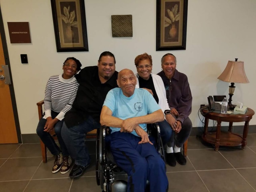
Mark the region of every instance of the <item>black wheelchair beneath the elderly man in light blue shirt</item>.
MULTIPOLYGON (((155 139, 155 148, 165 162, 164 147, 160 136, 160 128, 157 123, 147 124, 148 134, 155 139)), ((114 179, 114 170, 121 170, 110 152, 110 147, 106 146, 105 137, 110 134, 110 128, 101 126, 97 130, 96 140, 96 182, 101 186, 102 192, 127 191, 127 182, 121 179, 114 179)), ((118 177, 118 175, 116 176, 118 177)), ((149 188, 147 182, 147 188, 149 188)), ((146 191, 148 191, 146 188, 146 191)))

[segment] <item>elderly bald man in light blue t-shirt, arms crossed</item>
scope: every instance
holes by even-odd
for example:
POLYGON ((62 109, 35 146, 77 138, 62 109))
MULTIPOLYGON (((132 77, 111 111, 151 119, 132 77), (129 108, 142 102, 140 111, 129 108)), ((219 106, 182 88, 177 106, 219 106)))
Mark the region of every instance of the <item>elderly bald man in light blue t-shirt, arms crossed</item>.
MULTIPOLYGON (((164 115, 148 91, 135 89, 136 83, 134 73, 123 69, 117 79, 120 88, 108 92, 100 115, 101 125, 111 130, 105 143, 117 165, 128 174, 127 191, 145 191, 148 180, 150 191, 164 192, 168 190, 165 162, 147 133, 147 123, 163 121, 164 115)), ((111 172, 103 172, 107 185, 111 172)))

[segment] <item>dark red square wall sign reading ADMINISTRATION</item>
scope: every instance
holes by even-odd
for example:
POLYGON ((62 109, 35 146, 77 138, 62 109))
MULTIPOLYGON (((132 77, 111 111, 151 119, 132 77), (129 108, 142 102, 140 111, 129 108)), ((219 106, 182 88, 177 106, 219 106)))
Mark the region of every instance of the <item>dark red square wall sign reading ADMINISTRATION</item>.
POLYGON ((31 43, 28 22, 7 22, 11 43, 31 43))

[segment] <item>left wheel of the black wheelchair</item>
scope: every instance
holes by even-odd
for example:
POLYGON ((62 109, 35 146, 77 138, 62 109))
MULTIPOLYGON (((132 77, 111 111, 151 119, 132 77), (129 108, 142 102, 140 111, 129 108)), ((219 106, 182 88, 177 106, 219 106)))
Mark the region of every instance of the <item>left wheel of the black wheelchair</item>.
POLYGON ((103 189, 104 176, 102 165, 102 128, 97 130, 96 140, 96 182, 103 189))

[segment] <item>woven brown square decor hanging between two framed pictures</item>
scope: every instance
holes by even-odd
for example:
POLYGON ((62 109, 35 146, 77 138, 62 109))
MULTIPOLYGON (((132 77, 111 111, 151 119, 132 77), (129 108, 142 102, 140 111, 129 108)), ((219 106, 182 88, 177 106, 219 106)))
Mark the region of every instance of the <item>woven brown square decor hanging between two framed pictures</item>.
POLYGON ((132 15, 111 15, 112 37, 132 37, 132 15))

